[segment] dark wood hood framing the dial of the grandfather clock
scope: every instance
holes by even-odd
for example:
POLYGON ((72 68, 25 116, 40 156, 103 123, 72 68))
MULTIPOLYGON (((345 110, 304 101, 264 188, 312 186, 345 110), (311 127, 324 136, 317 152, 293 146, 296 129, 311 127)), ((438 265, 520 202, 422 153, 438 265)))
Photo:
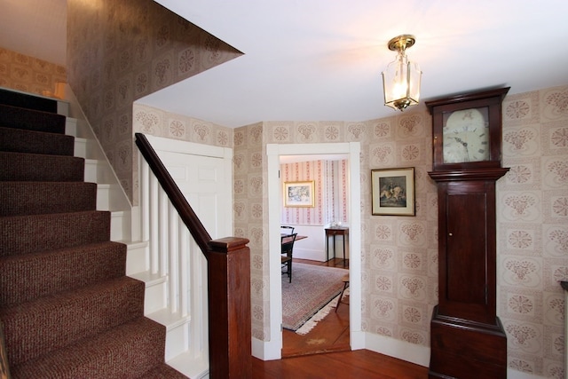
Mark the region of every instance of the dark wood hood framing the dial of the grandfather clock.
POLYGON ((501 102, 510 87, 492 91, 456 95, 447 99, 426 101, 432 115, 434 138, 434 171, 490 169, 501 167, 501 102), (487 107, 489 122, 489 158, 479 162, 444 162, 444 114, 459 110, 487 107))

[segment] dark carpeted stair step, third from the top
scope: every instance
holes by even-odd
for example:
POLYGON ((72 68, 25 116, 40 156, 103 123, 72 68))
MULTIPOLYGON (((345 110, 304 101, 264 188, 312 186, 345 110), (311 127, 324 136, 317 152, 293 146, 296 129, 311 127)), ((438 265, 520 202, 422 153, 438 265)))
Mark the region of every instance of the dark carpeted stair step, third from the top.
POLYGON ((44 131, 2 128, 0 125, 0 151, 73 156, 75 137, 44 131))

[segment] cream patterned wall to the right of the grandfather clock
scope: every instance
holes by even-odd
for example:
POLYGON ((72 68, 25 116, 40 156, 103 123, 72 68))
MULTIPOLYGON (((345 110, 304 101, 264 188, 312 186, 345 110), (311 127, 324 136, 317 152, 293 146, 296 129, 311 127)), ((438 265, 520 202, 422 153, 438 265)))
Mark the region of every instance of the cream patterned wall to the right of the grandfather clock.
POLYGON ((498 312, 509 367, 560 377, 568 278, 568 86, 512 95, 503 103, 498 182, 498 312))

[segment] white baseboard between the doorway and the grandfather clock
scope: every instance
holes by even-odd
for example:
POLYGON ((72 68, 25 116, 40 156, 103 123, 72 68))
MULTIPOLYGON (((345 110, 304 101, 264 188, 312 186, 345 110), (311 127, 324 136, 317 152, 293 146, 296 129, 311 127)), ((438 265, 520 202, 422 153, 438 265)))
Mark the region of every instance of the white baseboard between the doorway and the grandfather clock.
POLYGON ((416 365, 430 366, 430 347, 367 332, 365 348, 416 365))

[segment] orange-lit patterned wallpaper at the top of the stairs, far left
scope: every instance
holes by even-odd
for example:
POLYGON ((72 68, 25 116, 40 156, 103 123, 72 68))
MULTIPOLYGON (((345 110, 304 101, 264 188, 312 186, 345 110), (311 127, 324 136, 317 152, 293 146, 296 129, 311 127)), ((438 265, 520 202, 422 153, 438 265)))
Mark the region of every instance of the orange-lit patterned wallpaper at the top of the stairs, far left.
POLYGON ((0 87, 54 97, 66 82, 65 67, 0 47, 0 87))

